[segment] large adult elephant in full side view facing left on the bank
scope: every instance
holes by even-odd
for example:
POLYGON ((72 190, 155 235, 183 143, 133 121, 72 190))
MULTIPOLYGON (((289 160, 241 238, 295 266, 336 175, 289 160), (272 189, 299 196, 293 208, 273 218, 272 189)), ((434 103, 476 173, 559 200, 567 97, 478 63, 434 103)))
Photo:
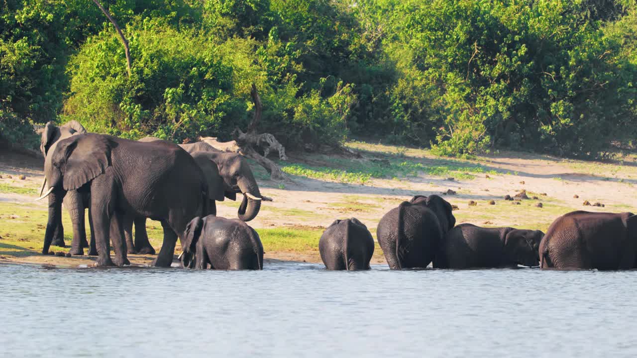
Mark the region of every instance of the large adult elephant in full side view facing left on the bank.
MULTIPOLYGON (((203 173, 181 148, 162 141, 141 143, 102 134, 79 134, 57 143, 45 161, 50 185, 47 193, 59 215, 68 190, 89 190, 90 213, 97 247, 97 266, 112 266, 109 236, 111 224, 120 227, 112 236, 115 264, 127 264, 121 220, 140 215, 159 220, 164 242, 154 266, 173 261, 177 237, 183 238, 191 218, 206 211, 207 186, 203 173), (119 223, 117 223, 119 221, 119 223)), ((52 232, 47 229, 43 253, 48 252, 52 232)))

